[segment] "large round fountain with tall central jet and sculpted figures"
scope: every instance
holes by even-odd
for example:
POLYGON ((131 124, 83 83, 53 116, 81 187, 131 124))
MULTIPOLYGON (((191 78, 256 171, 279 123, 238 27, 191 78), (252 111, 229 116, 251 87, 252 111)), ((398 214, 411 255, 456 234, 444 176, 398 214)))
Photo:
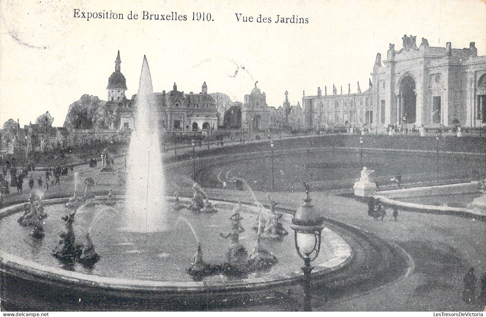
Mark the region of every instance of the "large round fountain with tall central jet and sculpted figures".
MULTIPOLYGON (((68 284, 63 290, 72 288, 77 292, 86 288, 95 294, 108 290, 113 296, 126 292, 134 298, 143 298, 150 291, 160 296, 171 294, 168 298, 177 293, 197 299, 213 290, 220 294, 240 292, 250 285, 248 291, 254 291, 267 287, 267 282, 295 280, 300 259, 295 254, 294 240, 285 237, 283 229, 283 224, 291 222, 290 215, 276 212, 277 203, 270 199, 272 207, 266 210, 244 179, 232 178, 239 179, 249 190, 254 202, 251 205, 222 200, 218 201, 216 210, 193 180, 187 184, 187 189, 192 187, 194 191, 192 199, 179 197, 178 192, 174 197, 165 196, 157 134, 160 129, 154 120, 157 115, 154 115, 154 94, 146 58, 135 100, 137 115, 127 156, 124 200, 120 196, 115 198, 111 190, 106 199, 95 197, 94 192, 102 189, 94 189, 96 182, 89 175, 83 176, 86 177, 84 195, 77 194, 77 185, 82 182, 77 181, 78 173, 74 175, 75 190, 71 197, 41 201, 43 192, 38 192, 40 197, 32 193, 19 219, 33 227, 32 233, 23 225, 13 225, 17 217, 9 216, 21 212, 22 205, 14 206, 16 209, 8 207, 6 210, 12 212, 0 215, 2 268, 12 267, 12 272, 23 266, 35 268, 28 270, 31 273, 26 274, 27 279, 34 276, 33 279, 46 285, 62 280, 68 284), (45 221, 44 206, 49 206, 50 215, 45 221), (168 212, 171 206, 174 212, 168 212), (259 216, 258 232, 245 231, 244 228, 252 226, 255 215, 259 216), (57 237, 59 218, 64 223, 57 237), (229 232, 221 233, 228 218, 229 232), (188 224, 194 235, 194 254, 188 252, 194 250, 189 230, 177 227, 180 220, 188 224), (221 237, 229 238, 229 245, 221 237), (42 244, 42 248, 32 252, 23 245, 26 239, 42 244), (249 247, 254 247, 250 256, 249 247), (278 259, 274 254, 278 254, 278 259)), ((106 156, 104 165, 112 166, 106 156)), ((120 186, 114 187, 118 189, 123 184, 109 185, 120 186)), ((319 270, 324 267, 314 271, 319 270)))

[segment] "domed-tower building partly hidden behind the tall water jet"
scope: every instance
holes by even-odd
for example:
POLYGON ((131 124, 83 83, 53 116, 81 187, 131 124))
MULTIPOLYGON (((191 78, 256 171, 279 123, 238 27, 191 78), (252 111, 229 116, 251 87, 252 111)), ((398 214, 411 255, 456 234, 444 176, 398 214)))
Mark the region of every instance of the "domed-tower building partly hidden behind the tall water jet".
MULTIPOLYGON (((125 96, 126 80, 121 73, 120 52, 115 60, 115 71, 108 79, 108 124, 111 129, 133 129, 137 115, 137 95, 131 99, 125 96)), ((216 102, 208 95, 208 85, 204 82, 198 94, 184 94, 177 90, 174 82, 173 89, 168 93, 154 93, 156 114, 159 127, 162 130, 200 130, 217 129, 218 113, 216 102)))

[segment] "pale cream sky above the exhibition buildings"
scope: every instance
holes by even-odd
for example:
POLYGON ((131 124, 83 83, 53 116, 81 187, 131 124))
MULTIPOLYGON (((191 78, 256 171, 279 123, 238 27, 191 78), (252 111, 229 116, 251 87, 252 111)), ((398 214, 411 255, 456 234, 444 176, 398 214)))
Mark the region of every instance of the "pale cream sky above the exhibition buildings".
POLYGON ((143 56, 154 91, 220 92, 243 101, 258 81, 269 106, 289 92, 292 105, 317 87, 335 84, 362 91, 376 54, 389 43, 402 48, 403 34, 430 46, 469 48, 486 55, 486 2, 481 0, 315 1, 125 1, 42 0, 0 2, 0 124, 33 123, 49 111, 62 126, 69 105, 82 95, 106 100, 117 51, 130 98, 137 94, 143 56), (99 2, 103 2, 100 4, 99 2), (80 12, 122 13, 124 19, 74 17, 80 12), (129 20, 132 11, 139 19, 129 20), (186 15, 187 21, 143 20, 149 14, 186 15), (192 21, 192 13, 210 21, 192 21), (240 21, 235 14, 242 14, 240 21), (257 23, 259 16, 272 23, 257 23), (275 23, 277 15, 308 18, 307 24, 275 23), (253 16, 254 22, 243 22, 253 16))

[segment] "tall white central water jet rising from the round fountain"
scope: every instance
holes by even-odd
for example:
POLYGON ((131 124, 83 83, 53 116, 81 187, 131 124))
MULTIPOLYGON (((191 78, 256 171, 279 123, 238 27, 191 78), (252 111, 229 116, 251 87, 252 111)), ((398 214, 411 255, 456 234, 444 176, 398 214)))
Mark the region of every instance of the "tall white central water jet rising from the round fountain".
POLYGON ((126 220, 124 231, 154 232, 167 229, 160 131, 155 95, 147 58, 143 57, 136 96, 135 130, 127 157, 126 220), (150 194, 149 194, 150 192, 150 194))

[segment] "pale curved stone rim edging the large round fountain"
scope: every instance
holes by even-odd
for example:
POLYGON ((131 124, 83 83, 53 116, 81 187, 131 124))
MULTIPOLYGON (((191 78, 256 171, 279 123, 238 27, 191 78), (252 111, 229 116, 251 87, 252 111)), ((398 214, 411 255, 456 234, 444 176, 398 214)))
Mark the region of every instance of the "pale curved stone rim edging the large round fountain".
MULTIPOLYGON (((108 196, 96 196, 95 198, 104 200, 108 196)), ((113 196, 120 200, 124 195, 113 196)), ((171 197, 171 196, 166 196, 171 197)), ((46 199, 42 202, 45 205, 53 205, 66 203, 71 197, 46 199)), ((174 198, 174 197, 172 197, 174 198)), ((190 198, 179 197, 180 200, 188 201, 190 198)), ((224 202, 227 204, 235 204, 225 200, 213 200, 214 202, 224 202)), ((0 209, 0 219, 8 217, 14 213, 20 212, 24 203, 15 204, 0 209)), ((248 207, 248 205, 245 204, 248 207)), ((251 206, 257 208, 256 206, 251 206)), ((290 218, 289 214, 284 214, 286 218, 290 218)), ((341 238, 342 239, 342 238, 341 238)), ((343 240, 344 241, 344 240, 343 240)), ((346 248, 346 246, 345 246, 346 248)), ((348 250, 345 250, 346 256, 339 258, 331 258, 335 265, 332 267, 314 264, 312 275, 320 277, 330 272, 346 267, 354 257, 353 251, 349 245, 348 250)), ((330 262, 330 261, 328 261, 330 262)), ((56 268, 39 264, 32 260, 27 260, 17 255, 8 254, 0 250, 0 271, 6 274, 12 274, 27 280, 42 281, 47 284, 65 283, 69 285, 77 285, 87 288, 104 288, 106 290, 115 291, 183 291, 183 292, 201 292, 208 290, 257 290, 273 285, 293 284, 300 281, 301 273, 293 273, 288 276, 283 275, 267 275, 266 278, 247 278, 245 280, 222 281, 221 283, 211 283, 206 281, 155 281, 143 279, 122 279, 114 277, 105 277, 100 275, 85 274, 82 272, 67 271, 65 269, 56 268), (270 277, 270 279, 269 279, 270 277)))

